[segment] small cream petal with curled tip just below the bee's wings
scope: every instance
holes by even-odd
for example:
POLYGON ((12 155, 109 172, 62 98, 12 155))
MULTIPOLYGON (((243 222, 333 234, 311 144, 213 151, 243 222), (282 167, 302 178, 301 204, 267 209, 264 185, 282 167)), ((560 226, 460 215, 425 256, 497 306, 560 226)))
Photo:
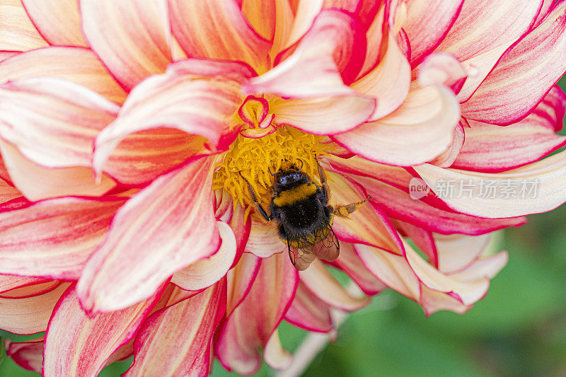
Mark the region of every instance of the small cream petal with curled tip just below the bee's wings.
POLYGON ((320 260, 314 260, 311 267, 300 271, 299 278, 306 288, 321 301, 342 311, 357 311, 371 301, 369 296, 357 297, 350 294, 320 260))

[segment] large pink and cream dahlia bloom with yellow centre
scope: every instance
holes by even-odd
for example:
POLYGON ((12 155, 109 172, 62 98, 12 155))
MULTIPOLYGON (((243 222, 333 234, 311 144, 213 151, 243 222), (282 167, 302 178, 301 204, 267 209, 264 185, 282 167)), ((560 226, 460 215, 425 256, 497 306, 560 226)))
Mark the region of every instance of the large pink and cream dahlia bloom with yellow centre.
POLYGON ((0 0, 0 328, 45 332, 8 354, 250 374, 291 361, 282 320, 386 288, 468 311, 492 231, 566 201, 565 28, 549 0, 0 0), (300 272, 253 198, 289 161, 371 196, 300 272))

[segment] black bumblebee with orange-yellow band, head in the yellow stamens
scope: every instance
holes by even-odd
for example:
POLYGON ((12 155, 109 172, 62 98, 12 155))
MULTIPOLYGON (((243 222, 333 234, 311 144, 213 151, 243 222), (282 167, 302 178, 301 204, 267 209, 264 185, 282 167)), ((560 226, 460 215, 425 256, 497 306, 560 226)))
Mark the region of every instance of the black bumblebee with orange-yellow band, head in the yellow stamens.
POLYGON ((277 221, 279 238, 287 243, 291 262, 296 269, 303 271, 316 257, 328 261, 338 257, 340 243, 332 229, 334 216, 347 217, 370 197, 361 202, 332 207, 328 204, 330 188, 324 169, 317 161, 319 186, 301 171, 303 162, 299 161, 299 168, 294 163, 287 163, 272 173, 274 183, 269 214, 258 202, 253 187, 246 182, 256 212, 267 221, 277 221))

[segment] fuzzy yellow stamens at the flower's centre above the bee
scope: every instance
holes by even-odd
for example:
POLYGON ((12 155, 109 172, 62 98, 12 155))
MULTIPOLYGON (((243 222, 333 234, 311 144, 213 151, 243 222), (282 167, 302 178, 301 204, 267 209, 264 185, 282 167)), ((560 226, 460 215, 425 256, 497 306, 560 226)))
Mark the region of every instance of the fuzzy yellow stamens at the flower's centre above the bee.
POLYGON ((279 127, 258 138, 246 137, 243 131, 216 166, 212 184, 214 190, 224 188, 229 192, 234 205, 253 204, 246 180, 252 185, 258 200, 267 204, 273 182, 271 173, 285 163, 301 160, 302 170, 311 177, 316 176, 315 157, 324 153, 323 144, 320 144, 322 137, 289 126, 279 127))

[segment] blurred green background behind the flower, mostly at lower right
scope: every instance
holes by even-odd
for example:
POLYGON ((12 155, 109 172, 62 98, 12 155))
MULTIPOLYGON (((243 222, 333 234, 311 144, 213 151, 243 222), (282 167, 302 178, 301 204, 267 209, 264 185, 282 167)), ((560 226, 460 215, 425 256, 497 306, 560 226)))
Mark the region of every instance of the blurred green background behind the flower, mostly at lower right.
MULTIPOLYGON (((560 84, 566 88, 566 77, 560 84)), ((562 206, 499 232, 499 248, 509 250, 509 264, 468 313, 426 318, 416 303, 386 291, 347 318, 337 340, 304 375, 566 376, 565 219, 562 206)), ((304 332, 283 324, 280 335, 292 351, 304 332)), ((119 376, 127 366, 113 364, 100 376, 119 376)), ((274 374, 263 366, 258 376, 274 374)), ((18 367, 3 350, 0 376, 37 374, 18 367)), ((216 363, 212 376, 233 375, 216 363)))

